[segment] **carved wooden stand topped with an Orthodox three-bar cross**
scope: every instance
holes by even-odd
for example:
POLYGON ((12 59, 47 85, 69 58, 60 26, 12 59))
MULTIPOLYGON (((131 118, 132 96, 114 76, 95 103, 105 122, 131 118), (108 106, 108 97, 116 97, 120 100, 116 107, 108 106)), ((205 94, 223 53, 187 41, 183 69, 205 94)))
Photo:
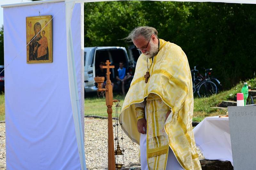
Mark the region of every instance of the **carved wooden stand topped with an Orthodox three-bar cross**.
POLYGON ((115 66, 110 66, 109 60, 105 63, 107 66, 103 66, 103 68, 107 68, 107 85, 105 89, 102 89, 102 83, 104 82, 105 77, 94 77, 96 83, 98 83, 98 92, 106 91, 106 105, 108 107, 108 170, 115 170, 115 152, 114 152, 114 137, 113 137, 113 127, 112 127, 112 105, 113 102, 117 102, 118 100, 113 100, 113 87, 110 81, 110 71, 109 68, 115 68, 115 66))

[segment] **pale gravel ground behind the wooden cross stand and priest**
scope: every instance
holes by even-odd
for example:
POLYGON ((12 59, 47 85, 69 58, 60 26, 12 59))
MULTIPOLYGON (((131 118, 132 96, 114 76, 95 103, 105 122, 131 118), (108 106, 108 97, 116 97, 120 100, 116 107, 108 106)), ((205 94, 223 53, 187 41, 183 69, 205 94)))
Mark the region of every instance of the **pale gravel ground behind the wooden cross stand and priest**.
MULTIPOLYGON (((85 157, 86 166, 108 166, 108 120, 84 118, 85 123, 85 157)), ((119 128, 120 129, 120 128, 119 128)), ((121 131, 118 133, 121 138, 121 131)), ((115 136, 115 131, 114 131, 115 136)), ((132 142, 124 133, 124 165, 139 161, 137 144, 132 142)), ((122 143, 121 143, 122 149, 122 143)), ((199 159, 204 159, 202 152, 197 148, 199 159)), ((122 160, 122 157, 121 161, 122 160)), ((5 158, 5 123, 0 123, 0 170, 6 167, 5 158)))

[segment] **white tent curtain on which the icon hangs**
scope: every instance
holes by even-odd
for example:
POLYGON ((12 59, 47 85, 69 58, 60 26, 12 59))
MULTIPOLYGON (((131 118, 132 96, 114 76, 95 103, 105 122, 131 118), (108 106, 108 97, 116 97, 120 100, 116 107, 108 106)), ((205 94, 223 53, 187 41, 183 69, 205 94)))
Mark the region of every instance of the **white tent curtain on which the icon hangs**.
MULTIPOLYGON (((81 55, 83 54, 81 49, 84 48, 84 43, 81 41, 84 27, 83 7, 82 4, 76 4, 74 7, 71 22, 74 40, 71 47, 74 50, 68 49, 66 52, 65 33, 67 32, 63 29, 66 26, 63 1, 21 6, 15 4, 4 8, 4 65, 8 66, 5 69, 7 169, 39 167, 82 169, 79 152, 84 152, 84 142, 79 143, 82 143, 81 148, 78 147, 76 140, 81 140, 84 135, 77 135, 76 129, 81 132, 83 124, 78 123, 80 127, 76 129, 74 127, 77 126, 77 120, 79 118, 83 120, 83 117, 73 118, 71 98, 65 94, 69 93, 70 89, 74 89, 72 84, 69 87, 68 72, 72 73, 72 70, 68 71, 67 68, 68 63, 74 63, 75 60, 77 72, 74 75, 77 77, 76 86, 81 108, 78 115, 84 116, 82 104, 84 100, 81 100, 84 97, 82 94, 84 55, 81 55), (27 64, 27 47, 24 48, 28 44, 25 34, 26 17, 38 15, 39 10, 41 15, 52 15, 54 18, 52 22, 54 62, 27 64), (66 55, 70 51, 74 51, 76 57, 67 62, 66 55)), ((28 36, 33 35, 28 34, 28 36)), ((77 91, 73 94, 77 95, 77 91)))

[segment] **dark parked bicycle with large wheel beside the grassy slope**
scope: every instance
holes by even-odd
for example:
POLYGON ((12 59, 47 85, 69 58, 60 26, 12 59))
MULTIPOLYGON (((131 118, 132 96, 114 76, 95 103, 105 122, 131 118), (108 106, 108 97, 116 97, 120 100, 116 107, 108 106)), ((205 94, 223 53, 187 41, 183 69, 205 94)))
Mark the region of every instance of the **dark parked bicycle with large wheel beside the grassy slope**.
MULTIPOLYGON (((212 69, 209 69, 207 71, 211 71, 212 69)), ((196 66, 193 70, 191 70, 191 73, 193 75, 192 82, 193 82, 193 94, 197 92, 197 95, 199 97, 208 97, 214 94, 217 94, 218 88, 214 82, 210 80, 209 77, 207 77, 207 72, 205 70, 205 76, 202 76, 198 70, 196 70, 196 66), (196 76, 197 74, 197 76, 196 76)))

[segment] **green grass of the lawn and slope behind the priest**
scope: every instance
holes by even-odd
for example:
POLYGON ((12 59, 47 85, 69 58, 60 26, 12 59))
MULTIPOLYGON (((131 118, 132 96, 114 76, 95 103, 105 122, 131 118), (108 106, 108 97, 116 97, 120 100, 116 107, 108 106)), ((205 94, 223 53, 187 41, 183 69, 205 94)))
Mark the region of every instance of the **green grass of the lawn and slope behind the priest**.
MULTIPOLYGON (((256 79, 251 79, 247 81, 248 84, 251 84, 252 89, 256 87, 256 79)), ((224 100, 234 100, 236 93, 240 93, 243 87, 243 82, 238 83, 236 86, 232 87, 229 90, 222 91, 217 95, 213 95, 211 97, 198 98, 194 99, 194 117, 193 121, 201 122, 205 117, 211 116, 219 116, 226 115, 227 109, 218 110, 212 109, 211 107, 216 107, 219 103, 224 100)), ((88 97, 84 100, 84 115, 97 115, 108 117, 107 114, 107 106, 105 98, 102 96, 96 97, 88 97)), ((120 105, 122 106, 124 103, 124 97, 122 95, 115 95, 114 99, 120 99, 120 105)), ((256 103, 256 101, 254 101, 256 103)), ((113 113, 115 113, 115 103, 113 103, 113 113)), ((112 114, 112 117, 114 114, 112 114)), ((0 95, 0 120, 5 120, 5 102, 4 102, 4 94, 0 95)))

